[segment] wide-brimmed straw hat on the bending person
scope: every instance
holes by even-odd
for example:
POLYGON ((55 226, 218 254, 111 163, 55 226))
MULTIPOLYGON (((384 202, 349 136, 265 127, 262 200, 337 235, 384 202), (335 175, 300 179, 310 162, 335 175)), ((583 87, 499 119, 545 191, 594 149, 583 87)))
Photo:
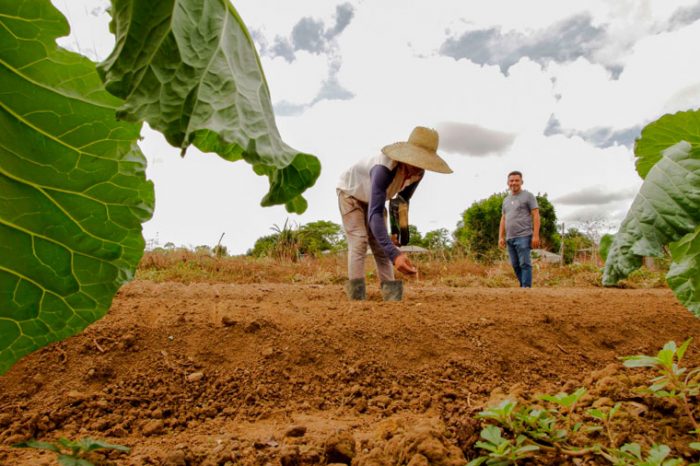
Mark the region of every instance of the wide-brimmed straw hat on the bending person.
POLYGON ((416 126, 408 142, 395 142, 382 148, 384 155, 397 162, 438 173, 452 173, 452 169, 437 154, 437 131, 416 126))

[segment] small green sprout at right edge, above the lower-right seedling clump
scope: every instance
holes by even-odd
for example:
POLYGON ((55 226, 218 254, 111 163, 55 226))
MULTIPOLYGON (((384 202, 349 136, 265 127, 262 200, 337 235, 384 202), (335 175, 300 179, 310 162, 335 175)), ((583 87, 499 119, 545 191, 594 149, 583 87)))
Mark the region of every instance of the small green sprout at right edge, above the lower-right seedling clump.
POLYGON ((666 343, 656 356, 636 355, 622 358, 625 367, 650 367, 658 372, 647 391, 660 398, 671 398, 680 403, 681 409, 686 413, 693 425, 693 433, 700 435, 700 427, 693 415, 689 398, 700 393, 699 373, 700 368, 688 370, 681 367, 681 361, 685 355, 692 338, 688 338, 680 347, 676 347, 674 341, 666 343))

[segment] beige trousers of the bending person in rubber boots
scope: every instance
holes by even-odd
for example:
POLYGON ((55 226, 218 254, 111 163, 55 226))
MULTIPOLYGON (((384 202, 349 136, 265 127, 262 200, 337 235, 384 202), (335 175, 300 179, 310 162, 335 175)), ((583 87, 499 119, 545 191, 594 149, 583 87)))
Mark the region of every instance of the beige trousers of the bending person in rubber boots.
MULTIPOLYGON (((367 224, 369 205, 338 191, 338 207, 343 218, 343 229, 348 241, 348 278, 365 278, 365 258, 369 245, 377 264, 377 274, 381 281, 394 279, 394 265, 372 235, 367 224)), ((384 211, 386 216, 386 210, 384 211)))

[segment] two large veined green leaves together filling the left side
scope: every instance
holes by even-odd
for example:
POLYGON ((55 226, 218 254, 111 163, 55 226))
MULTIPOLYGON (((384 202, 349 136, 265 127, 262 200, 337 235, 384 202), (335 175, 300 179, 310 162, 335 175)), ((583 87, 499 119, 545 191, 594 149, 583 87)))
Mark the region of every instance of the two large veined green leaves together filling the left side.
POLYGON ((228 1, 114 0, 111 11, 116 46, 99 71, 113 95, 94 63, 56 46, 69 27, 49 0, 0 0, 0 374, 102 317, 133 278, 154 208, 142 121, 183 153, 194 144, 252 164, 270 180, 262 205, 303 212, 320 173, 280 139, 228 1))

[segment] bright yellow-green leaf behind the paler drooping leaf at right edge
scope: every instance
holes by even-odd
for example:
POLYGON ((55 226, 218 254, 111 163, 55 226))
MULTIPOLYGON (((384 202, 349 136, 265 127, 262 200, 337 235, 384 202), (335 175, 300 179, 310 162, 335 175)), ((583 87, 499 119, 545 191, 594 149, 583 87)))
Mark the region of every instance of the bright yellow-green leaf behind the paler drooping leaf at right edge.
POLYGON ((639 176, 646 178, 662 152, 681 141, 700 147, 700 112, 689 110, 664 115, 644 127, 641 138, 634 144, 639 176))

